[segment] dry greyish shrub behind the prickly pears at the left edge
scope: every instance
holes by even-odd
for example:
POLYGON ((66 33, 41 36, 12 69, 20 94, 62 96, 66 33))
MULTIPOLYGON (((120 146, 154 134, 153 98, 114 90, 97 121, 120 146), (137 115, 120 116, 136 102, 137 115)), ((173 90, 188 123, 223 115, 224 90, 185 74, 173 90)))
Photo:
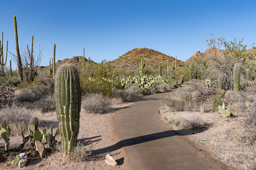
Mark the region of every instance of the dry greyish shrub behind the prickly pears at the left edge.
POLYGON ((21 131, 28 132, 28 125, 33 112, 24 107, 13 105, 11 107, 0 110, 0 121, 6 120, 8 117, 11 135, 19 136, 21 131))

